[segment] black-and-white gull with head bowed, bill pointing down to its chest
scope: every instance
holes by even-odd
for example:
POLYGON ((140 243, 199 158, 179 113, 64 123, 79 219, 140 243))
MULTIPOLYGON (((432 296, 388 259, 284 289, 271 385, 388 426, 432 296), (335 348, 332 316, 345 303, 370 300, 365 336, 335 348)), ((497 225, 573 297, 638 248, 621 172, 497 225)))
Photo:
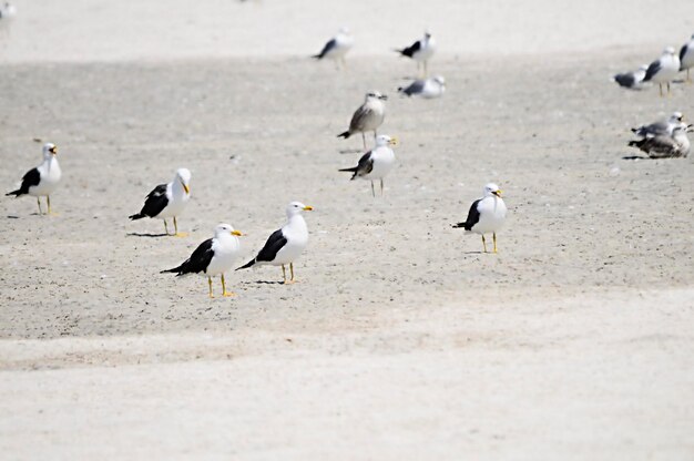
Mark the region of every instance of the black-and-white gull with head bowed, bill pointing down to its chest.
POLYGON ((160 184, 150 192, 144 199, 140 213, 129 216, 132 221, 143 217, 159 217, 164 219, 164 230, 169 234, 166 218, 174 218, 174 236, 185 237, 186 233, 178 233, 176 216, 180 216, 191 198, 191 172, 186 168, 176 170, 176 175, 169 184, 160 184))

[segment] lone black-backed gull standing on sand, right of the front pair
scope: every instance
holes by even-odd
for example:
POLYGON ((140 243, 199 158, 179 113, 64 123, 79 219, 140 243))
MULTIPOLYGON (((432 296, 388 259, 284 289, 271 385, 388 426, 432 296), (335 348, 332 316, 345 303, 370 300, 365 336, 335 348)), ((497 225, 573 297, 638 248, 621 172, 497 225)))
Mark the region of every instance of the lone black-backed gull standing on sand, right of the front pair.
POLYGON ((506 204, 501 198, 499 186, 489 183, 484 186, 484 196, 472 202, 468 212, 468 219, 465 223, 453 224, 456 228, 465 228, 482 236, 482 246, 487 253, 487 242, 484 234, 492 233, 494 253, 497 253, 497 230, 503 226, 506 219, 506 204))

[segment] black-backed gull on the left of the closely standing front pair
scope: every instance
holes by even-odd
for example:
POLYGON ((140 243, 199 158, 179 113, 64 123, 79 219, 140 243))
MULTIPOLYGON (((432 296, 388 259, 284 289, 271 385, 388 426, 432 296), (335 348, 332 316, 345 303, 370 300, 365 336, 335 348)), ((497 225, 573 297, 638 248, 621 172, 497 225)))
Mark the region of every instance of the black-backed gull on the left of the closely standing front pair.
POLYGON ((243 234, 234 229, 229 224, 218 224, 214 229, 213 238, 208 238, 200 244, 191 257, 178 267, 162 270, 161 274, 175 273, 176 277, 186 274, 207 276, 211 298, 214 298, 212 294, 212 277, 220 275, 222 278, 222 296, 234 296, 234 293, 226 290, 224 273, 234 267, 234 263, 238 259, 241 252, 238 237, 241 236, 243 234))

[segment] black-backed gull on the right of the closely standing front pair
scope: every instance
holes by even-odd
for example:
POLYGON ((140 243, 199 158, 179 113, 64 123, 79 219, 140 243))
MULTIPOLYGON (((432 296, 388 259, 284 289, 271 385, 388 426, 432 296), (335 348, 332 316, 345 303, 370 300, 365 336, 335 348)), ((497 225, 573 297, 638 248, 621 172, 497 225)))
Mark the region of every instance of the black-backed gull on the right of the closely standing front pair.
POLYGON ((287 205, 287 224, 280 229, 275 230, 265 242, 263 249, 257 256, 238 267, 236 270, 246 269, 255 265, 269 264, 272 266, 282 266, 282 277, 285 284, 293 284, 294 280, 294 260, 302 255, 306 244, 308 244, 308 228, 303 212, 310 212, 314 208, 304 205, 300 202, 292 202, 287 205), (287 280, 285 265, 289 265, 292 279, 287 280))

